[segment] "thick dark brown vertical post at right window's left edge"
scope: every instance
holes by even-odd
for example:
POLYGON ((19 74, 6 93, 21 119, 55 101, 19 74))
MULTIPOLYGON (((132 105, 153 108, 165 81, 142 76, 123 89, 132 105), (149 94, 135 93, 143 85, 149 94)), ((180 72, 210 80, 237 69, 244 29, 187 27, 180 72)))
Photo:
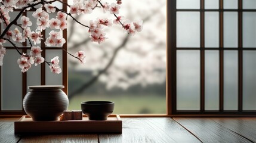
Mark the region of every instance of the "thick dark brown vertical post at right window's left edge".
POLYGON ((167 85, 166 85, 166 101, 167 114, 175 114, 177 112, 177 95, 176 95, 176 1, 167 1, 167 85))

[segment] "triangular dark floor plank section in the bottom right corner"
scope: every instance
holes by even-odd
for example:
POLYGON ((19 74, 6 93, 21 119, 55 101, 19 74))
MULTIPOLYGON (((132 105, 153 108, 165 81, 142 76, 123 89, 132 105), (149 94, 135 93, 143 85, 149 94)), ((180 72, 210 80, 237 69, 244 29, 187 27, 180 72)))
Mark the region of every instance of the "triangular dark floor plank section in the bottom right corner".
POLYGON ((213 118, 212 120, 256 142, 256 118, 213 118))

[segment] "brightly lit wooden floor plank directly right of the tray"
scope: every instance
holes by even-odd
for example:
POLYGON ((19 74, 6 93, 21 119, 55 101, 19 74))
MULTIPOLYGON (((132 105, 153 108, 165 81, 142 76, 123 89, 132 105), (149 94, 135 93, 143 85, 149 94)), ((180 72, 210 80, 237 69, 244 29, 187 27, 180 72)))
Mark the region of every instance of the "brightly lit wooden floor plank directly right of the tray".
POLYGON ((200 142, 171 118, 122 118, 121 135, 99 135, 100 142, 200 142))

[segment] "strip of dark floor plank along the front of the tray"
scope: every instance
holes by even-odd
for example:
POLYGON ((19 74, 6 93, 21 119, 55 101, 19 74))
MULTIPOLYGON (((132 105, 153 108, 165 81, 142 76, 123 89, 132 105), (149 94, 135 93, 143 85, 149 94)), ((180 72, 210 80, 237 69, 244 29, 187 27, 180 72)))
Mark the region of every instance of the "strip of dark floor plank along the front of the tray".
POLYGON ((98 135, 35 135, 22 136, 20 142, 45 143, 45 142, 98 142, 98 135))

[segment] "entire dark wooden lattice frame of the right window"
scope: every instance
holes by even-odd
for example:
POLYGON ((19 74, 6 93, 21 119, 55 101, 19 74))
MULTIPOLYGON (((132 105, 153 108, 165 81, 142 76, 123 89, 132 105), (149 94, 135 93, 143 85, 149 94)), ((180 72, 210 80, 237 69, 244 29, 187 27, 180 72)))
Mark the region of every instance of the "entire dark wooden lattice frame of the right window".
POLYGON ((217 10, 205 10, 204 8, 204 0, 200 0, 200 9, 192 10, 192 9, 178 9, 176 8, 176 1, 168 1, 167 2, 167 15, 168 15, 168 48, 167 48, 167 101, 168 101, 168 114, 172 116, 255 116, 256 110, 242 110, 242 104, 243 104, 243 71, 242 71, 242 52, 243 50, 256 50, 256 48, 243 48, 242 45, 242 14, 243 11, 254 11, 256 10, 243 10, 242 8, 242 0, 238 0, 238 9, 236 10, 229 10, 223 8, 223 0, 219 1, 220 7, 217 10), (176 13, 178 11, 197 11, 200 13, 200 47, 199 48, 177 48, 176 44, 176 13), (205 11, 217 11, 220 14, 220 45, 218 48, 205 48, 205 27, 204 27, 204 14, 205 11), (235 11, 238 12, 238 48, 224 48, 223 46, 223 14, 224 11, 235 11), (205 110, 205 49, 207 50, 217 50, 219 51, 220 56, 220 100, 219 100, 219 110, 205 110), (176 52, 177 50, 198 50, 200 51, 200 63, 201 63, 201 85, 200 85, 200 110, 177 110, 177 63, 176 63, 176 52), (224 67, 223 67, 223 57, 224 57, 224 50, 236 50, 238 51, 238 110, 224 110, 224 96, 223 96, 223 86, 224 86, 224 67))

